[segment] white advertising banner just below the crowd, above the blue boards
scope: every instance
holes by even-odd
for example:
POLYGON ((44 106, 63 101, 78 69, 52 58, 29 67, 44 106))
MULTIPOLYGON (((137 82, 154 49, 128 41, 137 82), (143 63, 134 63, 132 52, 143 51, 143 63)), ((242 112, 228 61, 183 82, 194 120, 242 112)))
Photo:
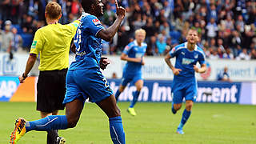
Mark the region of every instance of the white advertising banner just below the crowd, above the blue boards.
MULTIPOLYGON (((10 60, 9 54, 0 53, 0 76, 17 76, 25 70, 26 60, 29 54, 14 54, 10 60)), ((126 62, 119 56, 106 56, 110 59, 110 65, 102 73, 106 78, 112 78, 115 73, 118 78, 122 78, 122 68, 126 62)), ((74 61, 74 55, 70 55, 70 62, 74 61)), ((173 73, 166 65, 163 57, 146 57, 145 66, 142 67, 143 77, 145 79, 171 80, 173 73)), ((174 64, 175 60, 171 59, 174 64)), ((238 61, 238 60, 209 60, 207 59, 207 71, 205 74, 196 74, 198 80, 215 81, 217 75, 225 66, 229 69, 230 79, 235 82, 254 81, 256 82, 256 61, 238 61)), ((38 74, 37 66, 34 66, 34 75, 38 74)))

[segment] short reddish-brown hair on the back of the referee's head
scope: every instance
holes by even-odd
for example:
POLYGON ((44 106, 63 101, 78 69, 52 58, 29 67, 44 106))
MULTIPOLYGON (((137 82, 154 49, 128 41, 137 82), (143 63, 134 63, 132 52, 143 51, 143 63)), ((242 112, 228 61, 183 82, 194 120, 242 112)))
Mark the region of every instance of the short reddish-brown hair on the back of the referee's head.
POLYGON ((50 19, 58 19, 62 14, 62 7, 57 2, 49 2, 46 5, 46 14, 48 14, 50 19))

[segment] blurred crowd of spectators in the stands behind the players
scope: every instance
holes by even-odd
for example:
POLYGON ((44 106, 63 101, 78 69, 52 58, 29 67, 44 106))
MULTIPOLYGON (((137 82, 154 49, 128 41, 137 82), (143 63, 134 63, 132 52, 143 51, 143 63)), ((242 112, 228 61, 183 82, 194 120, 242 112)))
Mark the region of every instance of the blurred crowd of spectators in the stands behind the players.
MULTIPOLYGON (((62 6, 60 22, 73 22, 82 13, 78 0, 53 0, 62 6)), ((34 33, 45 26, 45 0, 0 1, 0 51, 29 51, 34 33)), ((114 0, 102 0, 101 20, 110 26, 114 0)), ((112 42, 103 41, 102 54, 121 54, 134 40, 134 31, 146 30, 146 55, 165 55, 186 41, 190 27, 198 30, 206 58, 256 58, 256 2, 254 0, 119 0, 126 18, 112 42)))

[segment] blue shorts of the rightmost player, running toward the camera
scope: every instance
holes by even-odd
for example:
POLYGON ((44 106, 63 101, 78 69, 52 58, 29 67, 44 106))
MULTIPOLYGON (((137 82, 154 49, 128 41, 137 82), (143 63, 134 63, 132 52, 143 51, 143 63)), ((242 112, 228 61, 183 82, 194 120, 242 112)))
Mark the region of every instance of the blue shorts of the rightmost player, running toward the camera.
POLYGON ((191 100, 195 102, 198 95, 198 83, 195 79, 190 81, 174 80, 171 92, 175 104, 182 103, 183 98, 186 101, 191 100))

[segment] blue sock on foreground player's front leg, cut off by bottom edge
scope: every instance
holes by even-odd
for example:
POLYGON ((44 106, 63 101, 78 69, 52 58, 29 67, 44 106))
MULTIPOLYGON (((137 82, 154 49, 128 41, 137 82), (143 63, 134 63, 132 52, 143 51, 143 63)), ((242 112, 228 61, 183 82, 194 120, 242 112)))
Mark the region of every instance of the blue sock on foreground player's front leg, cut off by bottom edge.
POLYGON ((114 144, 125 144, 126 136, 122 127, 122 118, 114 117, 109 118, 110 121, 110 136, 114 144))

